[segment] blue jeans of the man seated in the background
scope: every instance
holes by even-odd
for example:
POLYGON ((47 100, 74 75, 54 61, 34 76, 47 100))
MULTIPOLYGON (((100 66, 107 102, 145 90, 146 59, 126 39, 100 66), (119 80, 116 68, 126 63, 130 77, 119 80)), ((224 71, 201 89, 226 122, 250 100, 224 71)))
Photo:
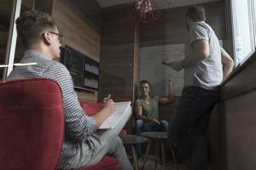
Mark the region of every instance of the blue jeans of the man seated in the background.
MULTIPOLYGON (((160 120, 160 124, 155 122, 144 122, 143 120, 136 121, 135 134, 140 135, 143 132, 167 132, 169 123, 165 120, 160 120)), ((142 144, 136 144, 137 155, 142 154, 142 144)))

